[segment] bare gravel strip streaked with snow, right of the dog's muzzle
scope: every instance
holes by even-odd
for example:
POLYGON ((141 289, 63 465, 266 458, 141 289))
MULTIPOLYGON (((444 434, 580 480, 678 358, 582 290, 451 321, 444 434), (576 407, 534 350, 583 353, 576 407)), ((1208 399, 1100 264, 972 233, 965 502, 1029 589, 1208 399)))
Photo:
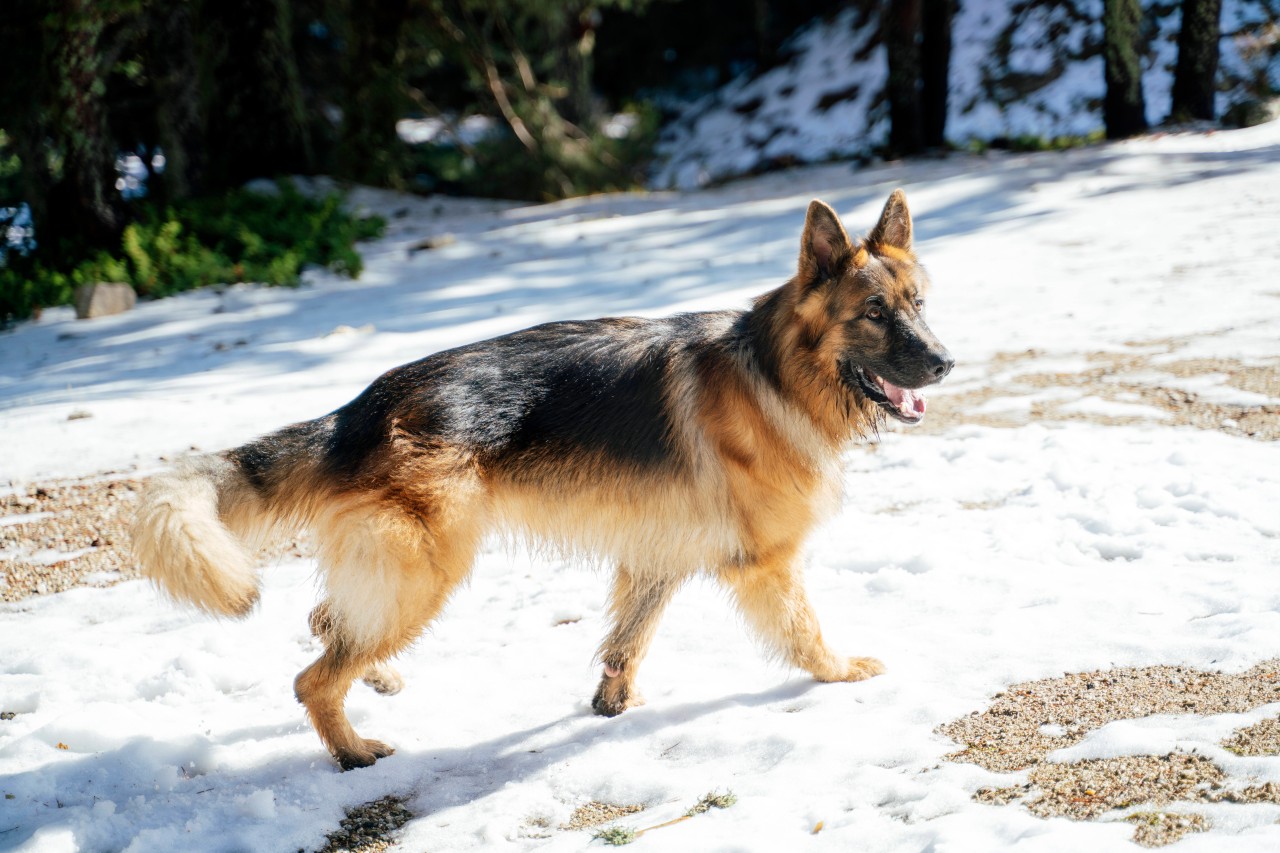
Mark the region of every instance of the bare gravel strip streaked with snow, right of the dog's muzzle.
POLYGON ((1280 400, 1280 360, 1266 364, 1247 364, 1238 359, 1164 360, 1180 345, 1178 341, 1134 342, 1130 346, 1140 347, 1142 352, 1093 352, 1085 356, 1088 366, 1075 371, 1036 370, 1036 360, 1044 355, 1036 350, 1000 353, 991 360, 988 371, 989 375, 1001 378, 998 383, 932 397, 929 416, 922 426, 941 432, 959 424, 1011 428, 1034 421, 1065 420, 1107 426, 1158 423, 1217 430, 1256 441, 1280 441, 1280 403, 1244 406, 1213 402, 1169 382, 1213 375, 1220 377, 1221 383, 1230 388, 1280 400), (1069 393, 1050 398, 1043 394, 1046 391, 1069 393), (992 400, 1033 396, 1025 409, 1016 411, 974 411, 992 400), (1085 397, 1117 406, 1114 414, 1073 407, 1073 403, 1085 397), (1164 415, 1144 414, 1143 407, 1158 410, 1164 415))

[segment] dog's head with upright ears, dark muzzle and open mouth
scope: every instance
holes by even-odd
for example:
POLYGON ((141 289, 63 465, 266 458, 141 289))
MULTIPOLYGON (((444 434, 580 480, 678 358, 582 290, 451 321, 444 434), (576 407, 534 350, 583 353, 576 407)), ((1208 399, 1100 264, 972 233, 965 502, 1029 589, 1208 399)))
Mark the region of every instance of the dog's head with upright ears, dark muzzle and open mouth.
POLYGON ((809 205, 792 280, 803 339, 855 398, 908 424, 924 418, 920 389, 941 382, 954 364, 924 321, 928 286, 911 251, 911 213, 901 190, 856 243, 831 207, 809 205))

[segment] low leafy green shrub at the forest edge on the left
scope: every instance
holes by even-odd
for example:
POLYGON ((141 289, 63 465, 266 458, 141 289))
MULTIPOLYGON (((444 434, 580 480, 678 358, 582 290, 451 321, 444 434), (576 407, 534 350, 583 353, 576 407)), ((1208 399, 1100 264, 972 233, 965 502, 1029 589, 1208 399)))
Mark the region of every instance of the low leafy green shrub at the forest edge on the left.
POLYGON ((93 282, 127 282, 138 296, 160 297, 216 283, 296 286, 308 264, 357 278, 355 243, 380 236, 385 222, 352 216, 338 196, 308 199, 292 183, 278 186, 271 195, 237 190, 146 207, 111 252, 61 246, 10 256, 0 268, 0 323, 69 305, 78 284, 93 282))

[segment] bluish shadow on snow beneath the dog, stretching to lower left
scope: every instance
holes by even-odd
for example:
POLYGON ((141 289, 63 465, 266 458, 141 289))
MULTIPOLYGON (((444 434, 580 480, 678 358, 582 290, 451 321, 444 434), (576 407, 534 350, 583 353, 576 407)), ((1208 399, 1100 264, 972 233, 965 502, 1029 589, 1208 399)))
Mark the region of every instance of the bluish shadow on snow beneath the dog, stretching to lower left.
MULTIPOLYGON (((572 713, 489 740, 401 747, 372 767, 348 772, 338 770, 301 719, 206 735, 137 736, 0 776, 6 794, 0 802, 0 849, 32 843, 38 849, 46 834, 70 834, 90 849, 173 849, 165 847, 169 840, 191 840, 214 833, 211 827, 225 849, 260 849, 264 821, 294 839, 311 835, 317 841, 312 847, 320 847, 324 835, 338 829, 342 813, 335 803, 349 808, 393 795, 406 799, 415 817, 430 817, 572 762, 600 744, 649 738, 732 708, 791 703, 815 686, 792 679, 754 693, 643 706, 613 719, 594 716, 582 703, 572 713), (294 735, 315 747, 300 752, 294 735), (219 767, 219 751, 227 748, 262 757, 219 767)), ((449 742, 447 726, 433 731, 424 740, 449 742)))

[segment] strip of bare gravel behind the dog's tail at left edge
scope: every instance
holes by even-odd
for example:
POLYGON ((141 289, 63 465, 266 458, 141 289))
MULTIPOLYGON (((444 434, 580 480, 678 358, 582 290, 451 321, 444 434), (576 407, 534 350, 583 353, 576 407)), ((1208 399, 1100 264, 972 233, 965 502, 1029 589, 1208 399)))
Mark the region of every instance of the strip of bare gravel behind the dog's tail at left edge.
MULTIPOLYGON (((137 578, 128 529, 142 484, 106 474, 0 497, 0 601, 137 578)), ((301 539, 283 540, 264 549, 260 562, 305 551, 301 539)))

